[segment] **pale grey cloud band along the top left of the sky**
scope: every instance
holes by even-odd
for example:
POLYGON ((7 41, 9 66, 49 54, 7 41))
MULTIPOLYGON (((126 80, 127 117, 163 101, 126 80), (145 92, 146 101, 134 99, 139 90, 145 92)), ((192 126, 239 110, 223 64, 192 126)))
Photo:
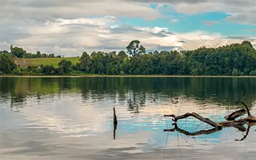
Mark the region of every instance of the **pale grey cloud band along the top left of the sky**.
POLYGON ((144 4, 123 1, 1 1, 0 18, 33 19, 35 21, 54 21, 58 18, 73 19, 86 16, 129 16, 153 20, 159 12, 144 4))

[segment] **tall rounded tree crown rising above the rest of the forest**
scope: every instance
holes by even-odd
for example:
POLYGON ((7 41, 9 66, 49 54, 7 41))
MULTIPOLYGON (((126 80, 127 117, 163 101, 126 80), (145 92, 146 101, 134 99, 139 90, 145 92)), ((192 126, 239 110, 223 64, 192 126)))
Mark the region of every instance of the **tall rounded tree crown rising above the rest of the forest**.
POLYGON ((129 53, 129 55, 132 55, 132 57, 146 53, 146 49, 144 48, 144 46, 139 45, 139 43, 140 41, 134 40, 131 41, 127 46, 127 53, 129 53))

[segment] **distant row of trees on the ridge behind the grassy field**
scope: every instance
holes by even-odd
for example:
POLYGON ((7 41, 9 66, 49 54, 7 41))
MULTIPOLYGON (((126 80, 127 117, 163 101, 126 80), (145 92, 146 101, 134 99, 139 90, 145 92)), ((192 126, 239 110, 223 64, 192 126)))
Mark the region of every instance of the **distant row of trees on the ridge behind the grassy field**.
POLYGON ((34 53, 27 53, 26 50, 23 50, 23 48, 14 47, 11 45, 10 48, 11 52, 9 53, 7 50, 0 51, 1 53, 5 54, 11 54, 13 57, 16 58, 61 58, 60 55, 55 56, 53 53, 46 54, 41 53, 40 51, 37 51, 36 54, 34 53))

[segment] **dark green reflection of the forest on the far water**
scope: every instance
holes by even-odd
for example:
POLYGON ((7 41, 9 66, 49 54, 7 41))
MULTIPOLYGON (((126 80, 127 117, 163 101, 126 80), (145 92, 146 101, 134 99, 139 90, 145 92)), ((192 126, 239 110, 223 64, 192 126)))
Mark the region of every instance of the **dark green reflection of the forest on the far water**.
MULTIPOLYGON (((125 102, 129 110, 145 107, 146 98, 193 97, 201 103, 233 105, 243 100, 252 106, 255 101, 255 78, 0 78, 0 94, 10 95, 12 103, 26 97, 80 92, 95 102, 106 98, 125 102), (161 96, 161 97, 159 97, 161 96)), ((8 96, 6 97, 8 98, 8 96)), ((138 110, 136 110, 138 112, 138 110)))

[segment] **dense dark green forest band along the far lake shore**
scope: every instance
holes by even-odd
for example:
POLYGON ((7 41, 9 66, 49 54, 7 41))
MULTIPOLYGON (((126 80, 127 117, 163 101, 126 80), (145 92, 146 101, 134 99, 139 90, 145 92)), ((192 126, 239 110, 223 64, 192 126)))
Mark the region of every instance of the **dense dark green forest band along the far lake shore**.
MULTIPOLYGON (((127 50, 82 53, 79 63, 60 60, 53 65, 17 66, 14 58, 54 58, 54 54, 26 53, 22 48, 0 51, 1 75, 256 75, 256 50, 250 41, 218 48, 161 50, 146 53, 140 41, 131 41, 127 50)), ((60 55, 58 56, 60 57, 60 55)))

